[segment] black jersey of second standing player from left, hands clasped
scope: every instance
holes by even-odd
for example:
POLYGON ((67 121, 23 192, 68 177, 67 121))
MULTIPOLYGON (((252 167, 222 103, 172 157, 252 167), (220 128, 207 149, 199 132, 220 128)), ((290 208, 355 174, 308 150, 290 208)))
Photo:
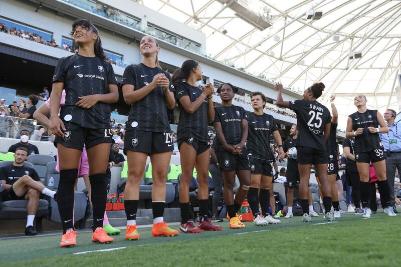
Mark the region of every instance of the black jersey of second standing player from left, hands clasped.
MULTIPOLYGON (((159 73, 164 73, 170 80, 169 90, 174 92, 170 74, 157 67, 149 68, 144 64, 130 65, 125 68, 121 85, 131 84, 134 90, 139 90, 153 81, 153 77, 159 73)), ((165 104, 164 90, 161 86, 153 89, 149 94, 138 102, 131 104, 128 121, 125 129, 141 130, 147 132, 171 132, 168 122, 167 107, 165 104)))

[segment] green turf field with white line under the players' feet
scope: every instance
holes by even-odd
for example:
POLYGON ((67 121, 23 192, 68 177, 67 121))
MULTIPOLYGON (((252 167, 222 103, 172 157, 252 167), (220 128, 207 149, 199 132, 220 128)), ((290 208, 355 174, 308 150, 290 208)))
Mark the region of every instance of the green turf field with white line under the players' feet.
MULTIPOLYGON (((381 211, 371 219, 343 214, 326 223, 322 215, 304 223, 301 217, 282 219, 281 224, 230 229, 220 223, 219 232, 152 237, 150 228, 138 229, 139 241, 116 236, 111 244, 91 242, 91 233, 79 233, 77 246, 60 248, 61 236, 3 239, 1 266, 397 266, 401 216, 381 211), (324 223, 324 224, 318 224, 324 223), (93 250, 118 248, 112 251, 93 250), (78 253, 78 254, 74 254, 78 253)), ((178 226, 171 228, 178 229, 178 226)))

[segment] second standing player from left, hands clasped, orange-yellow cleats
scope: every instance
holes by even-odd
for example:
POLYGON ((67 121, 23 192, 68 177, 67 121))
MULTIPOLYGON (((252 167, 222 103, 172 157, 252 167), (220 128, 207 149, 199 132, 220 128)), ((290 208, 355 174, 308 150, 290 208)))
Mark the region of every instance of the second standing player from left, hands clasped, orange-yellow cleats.
POLYGON ((124 153, 127 155, 128 179, 125 185, 126 240, 137 240, 136 211, 139 184, 145 172, 146 158, 152 164, 153 236, 174 236, 163 221, 166 176, 174 149, 167 108, 175 106, 170 75, 162 71, 157 54, 160 47, 151 36, 140 42, 142 63, 125 68, 121 81, 125 103, 131 105, 125 129, 124 153))

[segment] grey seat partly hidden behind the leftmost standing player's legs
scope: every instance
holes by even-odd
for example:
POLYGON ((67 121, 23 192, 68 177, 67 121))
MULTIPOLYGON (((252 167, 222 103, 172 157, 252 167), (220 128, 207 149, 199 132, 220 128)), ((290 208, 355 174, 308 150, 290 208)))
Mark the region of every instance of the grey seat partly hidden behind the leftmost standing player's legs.
MULTIPOLYGON (((60 174, 56 170, 56 161, 51 161, 46 165, 45 184, 49 184, 49 179, 54 179, 54 190, 57 191, 59 187, 60 174)), ((85 212, 88 205, 87 197, 84 192, 75 192, 75 204, 74 204, 74 221, 79 221, 80 227, 85 225, 85 221, 82 219, 85 217, 85 212)), ((57 202, 53 198, 49 199, 49 219, 54 222, 61 222, 59 209, 57 202)))

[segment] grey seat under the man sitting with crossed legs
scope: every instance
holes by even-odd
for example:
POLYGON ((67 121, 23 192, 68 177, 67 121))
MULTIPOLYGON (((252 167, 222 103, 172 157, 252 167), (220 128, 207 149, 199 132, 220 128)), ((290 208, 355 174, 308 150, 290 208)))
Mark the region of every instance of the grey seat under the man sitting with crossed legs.
MULTIPOLYGON (((14 161, 1 161, 0 167, 13 164, 14 161)), ((33 168, 30 162, 25 162, 24 166, 33 168)), ((0 220, 2 219, 25 219, 27 218, 28 200, 9 200, 0 202, 0 220)), ((44 199, 39 200, 38 211, 36 212, 36 230, 42 232, 42 219, 48 215, 49 202, 44 199)))

